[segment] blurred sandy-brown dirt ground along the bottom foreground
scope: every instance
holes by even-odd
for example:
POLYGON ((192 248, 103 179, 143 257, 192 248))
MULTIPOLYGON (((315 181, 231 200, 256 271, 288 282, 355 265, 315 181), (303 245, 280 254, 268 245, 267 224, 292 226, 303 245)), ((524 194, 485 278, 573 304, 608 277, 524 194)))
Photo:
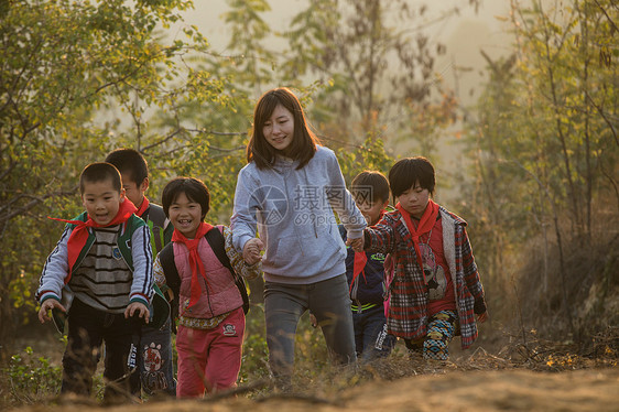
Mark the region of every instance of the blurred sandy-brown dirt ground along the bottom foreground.
MULTIPOLYGON (((20 412, 83 412, 84 405, 21 408, 20 412)), ((88 406, 91 410, 93 406, 88 406)), ((96 408, 95 408, 96 409, 96 408)), ((15 410, 17 411, 17 410, 15 410)), ((449 371, 372 381, 337 400, 245 397, 218 401, 149 401, 109 412, 343 412, 343 411, 619 411, 619 368, 561 373, 530 370, 449 371)))

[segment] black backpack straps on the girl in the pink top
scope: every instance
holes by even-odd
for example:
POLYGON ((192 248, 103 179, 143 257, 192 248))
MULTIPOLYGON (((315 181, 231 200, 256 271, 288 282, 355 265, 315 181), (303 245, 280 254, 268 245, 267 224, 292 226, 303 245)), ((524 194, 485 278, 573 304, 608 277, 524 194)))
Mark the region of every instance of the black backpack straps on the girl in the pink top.
MULTIPOLYGON (((243 312, 247 315, 249 312, 249 296, 247 294, 247 288, 245 285, 245 281, 240 274, 238 274, 230 264, 230 259, 228 254, 226 254, 226 239, 224 239, 224 235, 221 235, 221 230, 219 227, 214 227, 209 231, 206 232, 204 236, 206 241, 210 246, 210 249, 215 252, 219 262, 224 265, 224 268, 228 269, 230 273, 232 273, 232 278, 235 279, 235 284, 239 289, 241 293, 241 297, 243 300, 243 312)), ((178 295, 181 292, 181 277, 178 275, 178 270, 176 269, 176 263, 174 262, 174 249, 173 242, 165 245, 165 247, 159 253, 159 261, 163 268, 163 273, 165 274, 165 283, 174 293, 174 299, 172 300, 172 311, 173 317, 177 316, 178 312, 178 295)))

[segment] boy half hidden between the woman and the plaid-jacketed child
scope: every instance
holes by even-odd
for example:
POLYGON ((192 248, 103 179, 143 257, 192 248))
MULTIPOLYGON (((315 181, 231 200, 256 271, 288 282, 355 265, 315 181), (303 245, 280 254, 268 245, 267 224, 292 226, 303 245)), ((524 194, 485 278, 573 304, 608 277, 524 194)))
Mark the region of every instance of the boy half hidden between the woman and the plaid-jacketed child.
MULTIPOLYGON (((376 225, 389 205, 389 182, 380 172, 359 173, 350 186, 357 207, 368 226, 376 225)), ((346 230, 340 226, 346 241, 346 230)), ((356 252, 347 248, 346 277, 352 301, 352 322, 357 356, 362 361, 387 357, 395 337, 387 334, 384 316, 384 254, 356 252)))

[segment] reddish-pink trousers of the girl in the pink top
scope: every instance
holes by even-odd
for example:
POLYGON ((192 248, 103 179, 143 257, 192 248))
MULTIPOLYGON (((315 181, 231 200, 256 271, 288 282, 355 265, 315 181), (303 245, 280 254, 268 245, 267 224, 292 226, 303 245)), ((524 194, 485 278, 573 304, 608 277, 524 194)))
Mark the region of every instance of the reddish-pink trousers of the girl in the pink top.
POLYGON ((241 369, 245 313, 232 311, 211 329, 178 326, 178 382, 176 397, 196 398, 234 388, 241 369))

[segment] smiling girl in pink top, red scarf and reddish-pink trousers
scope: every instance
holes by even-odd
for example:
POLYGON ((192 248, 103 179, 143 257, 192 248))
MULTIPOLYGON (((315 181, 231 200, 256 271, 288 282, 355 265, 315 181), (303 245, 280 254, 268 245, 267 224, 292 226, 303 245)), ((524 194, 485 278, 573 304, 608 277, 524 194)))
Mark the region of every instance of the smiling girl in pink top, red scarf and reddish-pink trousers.
MULTIPOLYGON (((242 297, 232 273, 218 260, 205 235, 221 230, 226 253, 237 273, 252 279, 260 265, 248 267, 231 247, 231 232, 204 221, 209 208, 206 185, 193 177, 176 177, 163 189, 163 210, 174 225, 172 247, 180 278, 178 398, 199 397, 205 390, 218 391, 236 386, 241 365, 245 333, 242 297)), ((169 245, 170 247, 170 245, 169 245)), ((165 249, 164 249, 165 250, 165 249)), ((162 262, 164 250, 154 263, 155 282, 165 293, 167 286, 162 262)), ((171 278, 167 278, 169 280, 171 278)))

